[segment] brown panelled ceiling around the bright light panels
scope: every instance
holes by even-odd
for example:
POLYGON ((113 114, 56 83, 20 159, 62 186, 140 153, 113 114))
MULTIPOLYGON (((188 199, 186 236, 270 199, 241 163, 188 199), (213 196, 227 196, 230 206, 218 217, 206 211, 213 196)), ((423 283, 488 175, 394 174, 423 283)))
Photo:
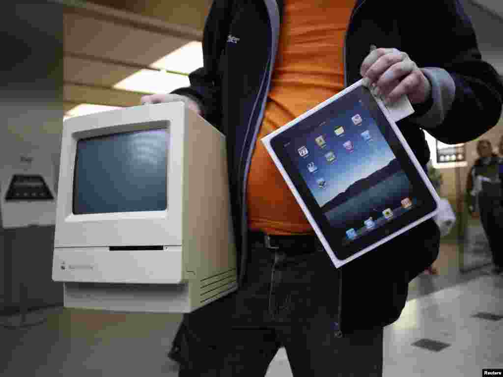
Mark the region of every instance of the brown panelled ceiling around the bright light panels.
MULTIPOLYGON (((143 92, 113 86, 201 40, 211 0, 54 0, 64 5, 64 110, 82 103, 134 106, 143 92)), ((501 0, 469 0, 503 20, 501 0)))

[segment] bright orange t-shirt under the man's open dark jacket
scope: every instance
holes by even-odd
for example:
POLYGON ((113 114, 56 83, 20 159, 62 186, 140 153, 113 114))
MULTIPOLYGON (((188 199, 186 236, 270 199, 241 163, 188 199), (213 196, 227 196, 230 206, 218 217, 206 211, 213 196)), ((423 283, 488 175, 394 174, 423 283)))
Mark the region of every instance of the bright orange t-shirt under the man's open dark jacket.
POLYGON ((271 90, 248 172, 250 230, 312 232, 260 139, 344 89, 344 38, 355 2, 285 1, 271 90))

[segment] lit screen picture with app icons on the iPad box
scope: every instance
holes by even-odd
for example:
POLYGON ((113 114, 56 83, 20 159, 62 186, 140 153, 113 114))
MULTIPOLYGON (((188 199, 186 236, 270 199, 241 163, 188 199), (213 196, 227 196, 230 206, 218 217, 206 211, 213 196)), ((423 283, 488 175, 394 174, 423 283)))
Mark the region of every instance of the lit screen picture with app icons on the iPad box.
POLYGON ((342 245, 421 204, 361 100, 284 148, 342 245))

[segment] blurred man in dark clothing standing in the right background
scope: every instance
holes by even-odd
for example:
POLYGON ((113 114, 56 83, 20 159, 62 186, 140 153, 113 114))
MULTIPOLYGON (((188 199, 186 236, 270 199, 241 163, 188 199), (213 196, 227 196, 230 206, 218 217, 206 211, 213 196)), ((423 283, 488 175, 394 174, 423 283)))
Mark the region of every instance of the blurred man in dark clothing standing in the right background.
POLYGON ((494 263, 493 272, 503 272, 501 244, 498 224, 501 185, 499 183, 499 157, 493 153, 491 142, 480 139, 477 142, 479 158, 475 160, 466 181, 468 212, 474 218, 480 218, 484 228, 494 263))

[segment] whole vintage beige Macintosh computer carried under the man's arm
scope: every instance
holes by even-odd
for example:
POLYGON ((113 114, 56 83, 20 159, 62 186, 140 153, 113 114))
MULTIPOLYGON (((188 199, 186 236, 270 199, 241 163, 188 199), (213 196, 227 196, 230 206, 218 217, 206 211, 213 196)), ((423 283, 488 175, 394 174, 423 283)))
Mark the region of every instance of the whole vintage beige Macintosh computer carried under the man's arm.
POLYGON ((182 102, 67 119, 52 276, 64 305, 187 313, 234 291, 225 137, 182 102))

